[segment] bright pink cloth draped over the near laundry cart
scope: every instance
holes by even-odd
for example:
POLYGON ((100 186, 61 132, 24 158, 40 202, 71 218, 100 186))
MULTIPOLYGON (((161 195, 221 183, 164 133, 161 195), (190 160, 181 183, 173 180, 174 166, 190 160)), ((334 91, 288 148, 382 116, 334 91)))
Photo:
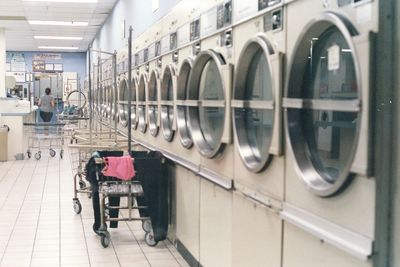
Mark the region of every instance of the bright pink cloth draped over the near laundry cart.
POLYGON ((112 176, 121 180, 131 180, 135 176, 133 161, 130 156, 105 157, 106 166, 101 171, 105 176, 112 176))

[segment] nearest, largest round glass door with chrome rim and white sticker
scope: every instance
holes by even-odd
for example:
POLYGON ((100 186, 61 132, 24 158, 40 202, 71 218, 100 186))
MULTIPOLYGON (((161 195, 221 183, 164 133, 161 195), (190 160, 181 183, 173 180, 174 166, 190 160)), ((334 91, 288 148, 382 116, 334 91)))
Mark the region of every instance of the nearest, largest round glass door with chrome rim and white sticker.
POLYGON ((287 133, 301 177, 320 196, 350 178, 361 119, 356 34, 332 13, 314 20, 294 51, 286 107, 287 133))

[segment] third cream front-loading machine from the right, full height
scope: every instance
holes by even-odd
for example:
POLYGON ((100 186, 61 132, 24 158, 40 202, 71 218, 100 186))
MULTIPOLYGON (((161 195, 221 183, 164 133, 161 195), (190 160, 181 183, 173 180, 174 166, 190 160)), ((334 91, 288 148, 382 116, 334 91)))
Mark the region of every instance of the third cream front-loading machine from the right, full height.
POLYGON ((198 23, 200 39, 193 43, 195 59, 186 104, 194 149, 201 155, 199 261, 204 266, 231 266, 234 146, 230 99, 235 38, 231 28, 232 2, 218 1, 201 14, 198 23))

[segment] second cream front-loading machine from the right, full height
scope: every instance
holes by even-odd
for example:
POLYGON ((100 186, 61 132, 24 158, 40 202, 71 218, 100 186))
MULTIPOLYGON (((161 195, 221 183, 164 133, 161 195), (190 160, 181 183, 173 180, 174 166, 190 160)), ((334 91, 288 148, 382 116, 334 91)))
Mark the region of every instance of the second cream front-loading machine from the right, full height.
POLYGON ((283 1, 233 1, 233 266, 281 266, 283 1), (245 224, 246 227, 242 225, 245 224), (257 241, 254 241, 257 236, 257 241), (253 243, 252 249, 243 244, 253 243))

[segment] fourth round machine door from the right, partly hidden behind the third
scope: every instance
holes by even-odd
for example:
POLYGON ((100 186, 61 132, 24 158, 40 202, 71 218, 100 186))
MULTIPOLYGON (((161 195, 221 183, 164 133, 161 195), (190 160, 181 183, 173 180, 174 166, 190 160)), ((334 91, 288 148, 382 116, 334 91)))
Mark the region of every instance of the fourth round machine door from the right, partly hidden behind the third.
POLYGON ((189 116, 185 100, 187 100, 189 75, 192 70, 192 60, 186 59, 181 66, 178 76, 178 88, 177 88, 177 124, 179 129, 179 135, 181 137, 181 144, 190 148, 193 145, 192 135, 188 125, 189 116))

